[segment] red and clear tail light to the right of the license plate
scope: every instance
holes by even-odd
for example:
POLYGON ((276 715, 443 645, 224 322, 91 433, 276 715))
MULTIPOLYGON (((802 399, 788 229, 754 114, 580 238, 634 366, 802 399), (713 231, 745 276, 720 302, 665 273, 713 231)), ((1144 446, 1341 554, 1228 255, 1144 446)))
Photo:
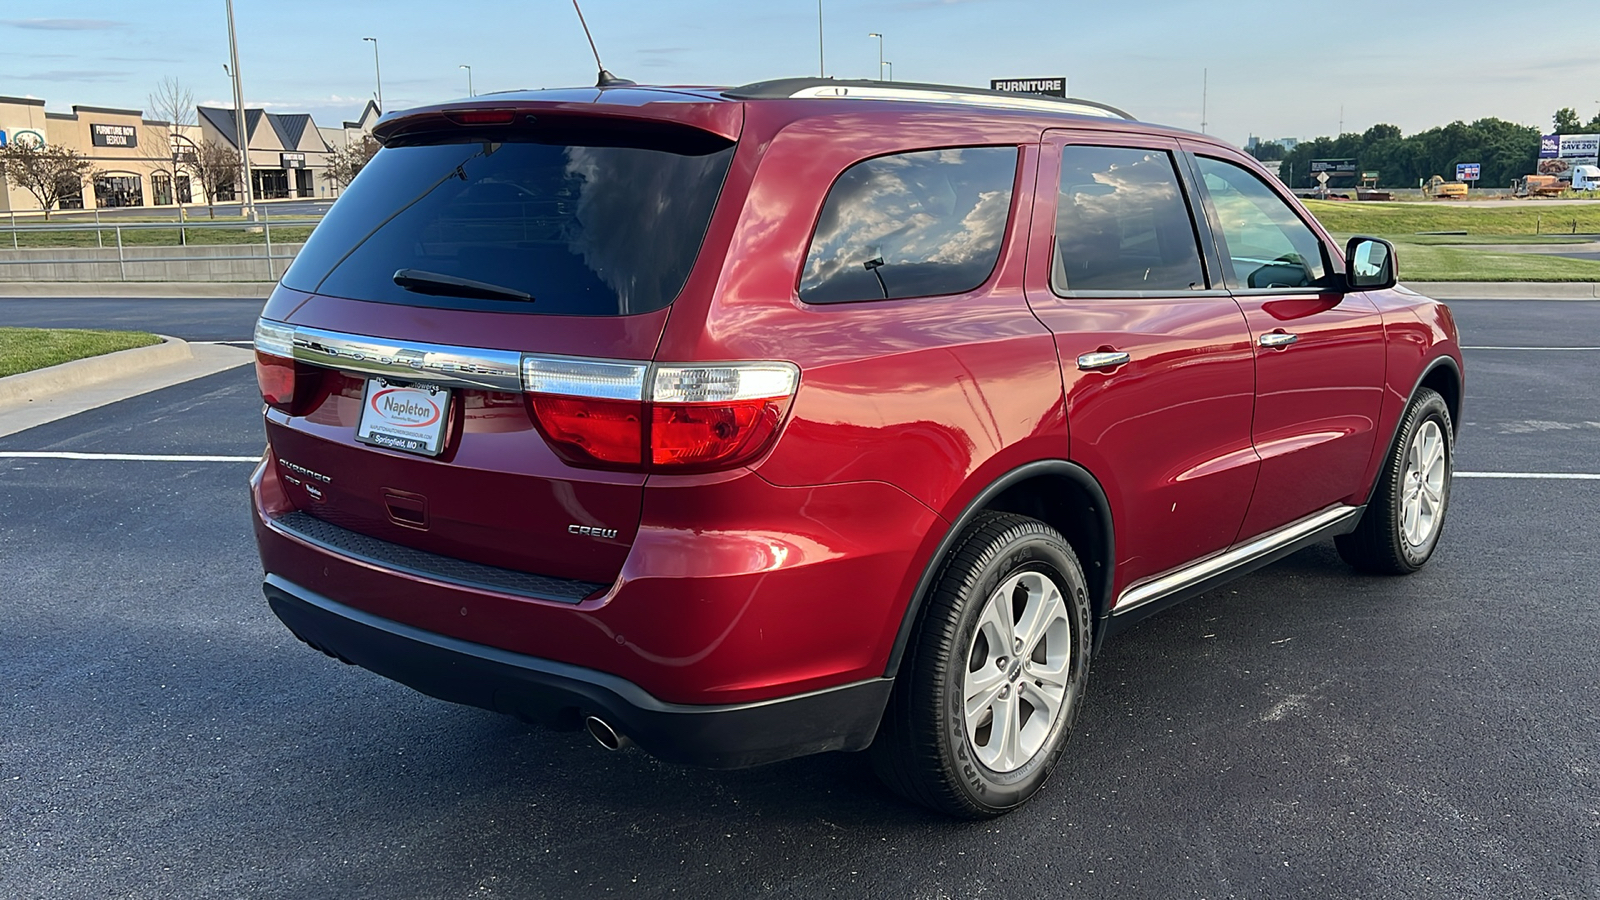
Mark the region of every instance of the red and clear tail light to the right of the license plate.
POLYGON ((787 362, 648 367, 530 356, 522 380, 534 423, 568 463, 706 472, 771 447, 800 370, 787 362))

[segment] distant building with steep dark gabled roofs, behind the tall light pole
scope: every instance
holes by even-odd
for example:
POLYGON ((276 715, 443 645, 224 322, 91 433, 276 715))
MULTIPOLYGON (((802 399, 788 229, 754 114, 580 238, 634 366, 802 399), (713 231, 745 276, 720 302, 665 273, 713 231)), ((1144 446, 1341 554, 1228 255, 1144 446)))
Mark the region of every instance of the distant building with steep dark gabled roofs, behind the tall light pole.
MULTIPOLYGON (((200 131, 238 149, 238 125, 232 109, 198 107, 200 131)), ((328 197, 331 186, 318 176, 328 170, 333 147, 309 114, 245 109, 245 143, 250 146, 250 181, 258 200, 328 197)))

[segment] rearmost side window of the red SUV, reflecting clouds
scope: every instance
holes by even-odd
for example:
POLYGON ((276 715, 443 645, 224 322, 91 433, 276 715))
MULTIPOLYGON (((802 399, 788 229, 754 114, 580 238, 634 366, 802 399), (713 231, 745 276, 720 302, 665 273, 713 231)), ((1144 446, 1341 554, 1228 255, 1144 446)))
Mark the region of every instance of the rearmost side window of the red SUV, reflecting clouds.
POLYGON ((800 299, 966 293, 1000 259, 1016 147, 918 151, 859 162, 827 192, 800 299))

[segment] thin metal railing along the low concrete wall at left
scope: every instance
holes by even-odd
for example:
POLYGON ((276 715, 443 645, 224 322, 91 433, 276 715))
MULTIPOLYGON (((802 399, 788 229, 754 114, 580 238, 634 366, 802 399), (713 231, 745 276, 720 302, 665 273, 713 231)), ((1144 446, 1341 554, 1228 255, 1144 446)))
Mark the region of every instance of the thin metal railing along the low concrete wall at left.
MULTIPOLYGON (((146 264, 146 263, 237 263, 237 261, 259 259, 266 266, 266 275, 267 275, 266 280, 275 282, 275 280, 278 280, 278 275, 283 274, 282 269, 288 269, 286 264, 282 266, 282 269, 280 269, 278 263, 280 261, 286 263, 290 259, 294 259, 294 253, 274 253, 272 251, 272 229, 274 227, 277 227, 277 229, 283 229, 283 227, 306 227, 306 226, 315 227, 320 221, 322 219, 307 219, 307 218, 275 219, 274 221, 269 216, 261 216, 256 221, 238 219, 238 221, 203 221, 203 223, 182 221, 181 223, 181 221, 174 219, 173 223, 96 223, 96 224, 88 224, 88 223, 85 223, 85 224, 29 223, 29 224, 16 224, 16 219, 13 218, 11 224, 5 224, 3 221, 0 221, 0 266, 85 266, 85 264, 86 266, 110 266, 110 264, 115 264, 117 271, 118 271, 118 275, 120 275, 120 280, 128 280, 128 266, 130 264, 136 264, 138 266, 138 264, 146 264), (190 243, 189 243, 189 232, 190 231, 202 231, 203 232, 203 231, 258 231, 258 229, 261 231, 262 242, 266 245, 266 253, 264 255, 262 253, 248 251, 248 250, 253 250, 256 247, 262 247, 261 243, 246 242, 246 243, 200 243, 198 245, 198 247, 237 247, 240 250, 246 250, 245 253, 211 253, 211 255, 179 253, 179 255, 162 255, 162 256, 144 256, 141 253, 138 256, 131 256, 130 258, 128 253, 126 253, 126 250, 128 250, 130 245, 126 245, 123 242, 123 239, 122 239, 123 232, 176 231, 178 232, 178 243, 176 245, 139 243, 139 245, 133 245, 133 247, 152 247, 152 248, 171 247, 173 250, 182 251, 182 250, 187 250, 190 247, 190 243), (21 242, 18 240, 18 235, 42 234, 42 232, 94 232, 94 235, 96 235, 96 247, 94 247, 94 250, 109 250, 110 247, 107 247, 107 243, 106 243, 106 232, 112 232, 115 235, 115 245, 114 247, 117 250, 117 258, 115 259, 109 259, 109 258, 107 259, 72 259, 72 258, 59 258, 59 259, 56 259, 56 258, 50 258, 50 259, 40 259, 40 258, 10 258, 8 259, 6 258, 8 255, 5 253, 5 250, 6 250, 5 243, 11 245, 10 250, 16 250, 16 251, 30 250, 30 248, 21 247, 21 242), (10 242, 5 240, 5 237, 3 237, 5 234, 10 234, 10 242)), ((282 247, 282 245, 283 245, 283 242, 278 243, 278 247, 282 247)), ((75 248, 69 248, 69 247, 48 247, 48 248, 46 247, 40 247, 38 250, 75 250, 75 248)))

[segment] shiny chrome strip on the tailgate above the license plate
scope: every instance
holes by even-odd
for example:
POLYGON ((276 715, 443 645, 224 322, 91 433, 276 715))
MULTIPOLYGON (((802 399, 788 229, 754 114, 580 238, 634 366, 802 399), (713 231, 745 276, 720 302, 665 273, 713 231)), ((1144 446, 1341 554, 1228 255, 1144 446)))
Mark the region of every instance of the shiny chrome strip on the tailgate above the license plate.
POLYGON ((522 354, 390 341, 323 328, 294 328, 294 359, 312 365, 381 375, 402 381, 427 381, 445 388, 522 391, 522 354))

